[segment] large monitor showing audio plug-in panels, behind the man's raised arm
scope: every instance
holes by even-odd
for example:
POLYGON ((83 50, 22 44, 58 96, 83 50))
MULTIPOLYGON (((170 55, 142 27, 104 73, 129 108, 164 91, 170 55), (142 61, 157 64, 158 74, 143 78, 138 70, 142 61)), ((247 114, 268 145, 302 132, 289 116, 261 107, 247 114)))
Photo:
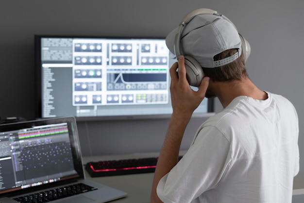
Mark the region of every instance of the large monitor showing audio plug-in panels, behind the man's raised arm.
MULTIPOLYGON (((36 117, 169 117, 175 61, 162 38, 35 35, 36 117)), ((204 100, 194 116, 208 112, 204 100)))

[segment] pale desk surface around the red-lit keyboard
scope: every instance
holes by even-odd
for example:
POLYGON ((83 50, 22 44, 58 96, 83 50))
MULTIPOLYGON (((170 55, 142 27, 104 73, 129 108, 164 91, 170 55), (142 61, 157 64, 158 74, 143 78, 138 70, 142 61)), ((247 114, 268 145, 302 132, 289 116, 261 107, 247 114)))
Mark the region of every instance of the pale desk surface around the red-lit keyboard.
MULTIPOLYGON (((183 154, 183 152, 181 152, 183 154)), ((158 153, 139 153, 109 156, 86 156, 84 164, 89 161, 116 160, 128 158, 156 157, 158 153)), ((85 169, 84 169, 85 170, 85 169)), ((154 173, 105 176, 92 178, 85 170, 85 177, 106 186, 114 187, 128 193, 128 196, 111 203, 150 203, 150 193, 154 173)), ((304 194, 304 172, 300 171, 294 178, 293 195, 304 194)))

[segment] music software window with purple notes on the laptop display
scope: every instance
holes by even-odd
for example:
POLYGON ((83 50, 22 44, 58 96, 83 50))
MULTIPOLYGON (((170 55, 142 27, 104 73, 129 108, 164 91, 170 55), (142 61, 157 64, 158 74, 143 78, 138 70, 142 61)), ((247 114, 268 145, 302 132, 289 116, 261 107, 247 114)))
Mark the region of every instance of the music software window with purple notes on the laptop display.
POLYGON ((43 185, 74 174, 67 123, 0 133, 0 190, 43 185))

